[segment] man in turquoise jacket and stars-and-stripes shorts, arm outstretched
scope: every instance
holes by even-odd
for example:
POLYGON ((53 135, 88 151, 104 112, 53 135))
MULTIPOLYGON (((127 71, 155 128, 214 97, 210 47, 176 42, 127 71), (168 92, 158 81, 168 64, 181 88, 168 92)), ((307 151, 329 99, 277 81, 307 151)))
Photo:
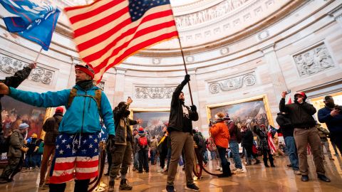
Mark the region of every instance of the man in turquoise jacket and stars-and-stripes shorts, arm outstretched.
POLYGON ((50 191, 64 191, 75 177, 74 191, 88 191, 90 178, 98 176, 98 133, 103 118, 108 133, 114 136, 113 112, 108 98, 93 85, 90 64, 76 65, 76 85, 72 90, 28 92, 0 83, 0 94, 36 107, 67 107, 59 125, 56 154, 50 171, 50 191), (75 171, 75 172, 74 172, 75 171))

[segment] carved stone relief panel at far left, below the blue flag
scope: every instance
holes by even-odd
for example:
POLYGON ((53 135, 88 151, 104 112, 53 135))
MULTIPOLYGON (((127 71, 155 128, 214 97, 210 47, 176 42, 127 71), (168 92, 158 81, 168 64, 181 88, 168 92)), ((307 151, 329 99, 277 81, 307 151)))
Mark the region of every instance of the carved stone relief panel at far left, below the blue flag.
MULTIPOLYGON (((23 69, 27 65, 28 63, 26 62, 0 54, 0 71, 3 73, 14 75, 16 71, 23 69)), ((51 85, 54 74, 55 71, 53 70, 37 66, 35 69, 31 70, 28 80, 40 82, 45 85, 51 85)))

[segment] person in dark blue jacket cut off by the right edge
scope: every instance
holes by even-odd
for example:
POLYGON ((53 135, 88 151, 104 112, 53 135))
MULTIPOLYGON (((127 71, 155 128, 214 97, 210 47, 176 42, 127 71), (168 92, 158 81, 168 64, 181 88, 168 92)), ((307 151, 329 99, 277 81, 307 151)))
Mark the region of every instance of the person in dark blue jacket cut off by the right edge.
POLYGON ((333 97, 330 95, 324 97, 323 102, 326 105, 318 110, 318 121, 326 123, 330 132, 330 141, 336 144, 338 150, 342 151, 342 107, 335 105, 333 97))

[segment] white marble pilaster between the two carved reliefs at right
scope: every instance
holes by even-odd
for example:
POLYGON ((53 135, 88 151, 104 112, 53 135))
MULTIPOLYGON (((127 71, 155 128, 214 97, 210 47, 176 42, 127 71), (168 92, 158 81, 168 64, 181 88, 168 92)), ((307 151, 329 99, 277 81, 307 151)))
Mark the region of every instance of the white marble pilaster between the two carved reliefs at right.
POLYGON ((279 60, 274 51, 274 44, 262 48, 261 51, 264 53, 264 60, 269 67, 269 76, 272 80, 276 101, 279 101, 281 99, 281 92, 286 91, 287 86, 279 65, 279 60))

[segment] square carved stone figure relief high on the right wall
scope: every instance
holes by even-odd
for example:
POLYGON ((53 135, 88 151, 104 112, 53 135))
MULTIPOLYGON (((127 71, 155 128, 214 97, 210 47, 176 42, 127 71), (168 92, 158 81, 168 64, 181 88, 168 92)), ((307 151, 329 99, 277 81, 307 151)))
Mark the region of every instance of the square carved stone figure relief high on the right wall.
POLYGON ((335 67, 331 54, 324 43, 293 55, 293 58, 301 78, 335 67))

